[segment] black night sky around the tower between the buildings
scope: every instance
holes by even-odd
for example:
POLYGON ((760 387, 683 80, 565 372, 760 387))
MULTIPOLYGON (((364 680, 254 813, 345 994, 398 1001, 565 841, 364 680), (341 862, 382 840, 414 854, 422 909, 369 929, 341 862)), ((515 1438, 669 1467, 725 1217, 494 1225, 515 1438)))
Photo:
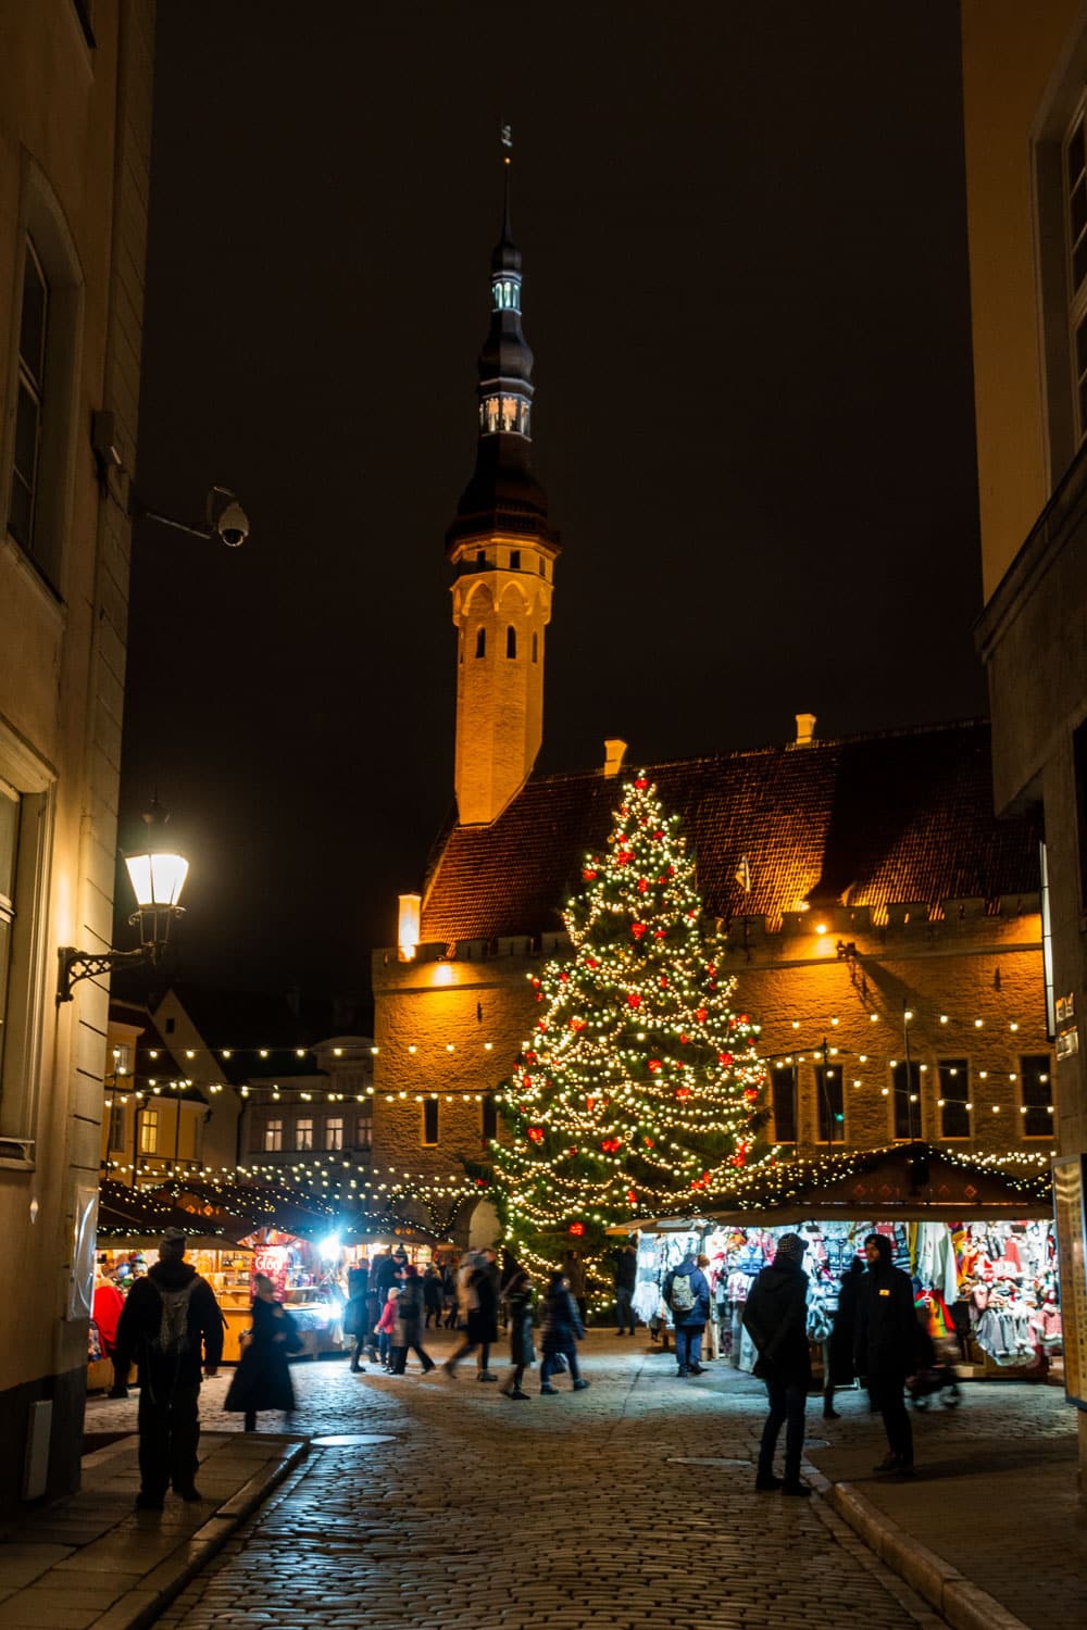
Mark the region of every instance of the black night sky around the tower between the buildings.
POLYGON ((181 976, 365 991, 451 807, 502 121, 564 546, 539 768, 984 711, 955 7, 158 18, 137 489, 253 525, 134 546, 121 843, 156 791, 181 976))

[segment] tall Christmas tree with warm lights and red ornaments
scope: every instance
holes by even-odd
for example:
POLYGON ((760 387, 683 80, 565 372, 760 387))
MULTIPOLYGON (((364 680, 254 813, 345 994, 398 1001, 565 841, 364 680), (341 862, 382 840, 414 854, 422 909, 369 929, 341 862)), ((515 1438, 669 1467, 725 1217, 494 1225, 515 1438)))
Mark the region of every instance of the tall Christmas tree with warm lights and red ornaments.
POLYGON ((764 1115, 758 1025, 730 1006, 694 862, 645 774, 566 910, 574 955, 533 976, 539 1017, 499 1097, 505 1242, 526 1267, 587 1258, 606 1229, 683 1213, 753 1161, 764 1115))

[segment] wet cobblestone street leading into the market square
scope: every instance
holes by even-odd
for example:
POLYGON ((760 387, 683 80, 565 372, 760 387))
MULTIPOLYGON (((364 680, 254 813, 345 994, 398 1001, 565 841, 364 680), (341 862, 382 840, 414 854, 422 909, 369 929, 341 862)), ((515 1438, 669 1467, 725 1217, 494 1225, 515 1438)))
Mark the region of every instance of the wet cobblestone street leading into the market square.
MULTIPOLYGON (((450 1343, 429 1341, 438 1358, 450 1343)), ((942 1623, 823 1500, 755 1495, 758 1382, 722 1363, 676 1381, 673 1359, 640 1335, 627 1343, 593 1332, 585 1356, 590 1390, 572 1394, 561 1377, 559 1397, 539 1397, 536 1371, 528 1403, 479 1384, 471 1359, 456 1381, 440 1371, 424 1379, 417 1368, 391 1379, 352 1376, 342 1361, 297 1366, 292 1430, 381 1441, 315 1444, 160 1625, 942 1623)), ((240 1426, 220 1410, 225 1387, 218 1377, 204 1390, 210 1430, 240 1426)), ((1012 1389, 1009 1410, 1009 1390, 978 1386, 957 1413, 916 1416, 919 1460, 926 1443, 947 1452, 992 1434, 1006 1415, 1012 1436, 1066 1438, 1074 1423, 1063 1395, 1028 1390, 1025 1413, 1027 1389, 1012 1389)), ((810 1402, 812 1447, 882 1456, 864 1394, 839 1395, 839 1408, 843 1418, 825 1423, 810 1402)), ((132 1430, 134 1420, 135 1400, 98 1400, 88 1431, 132 1430)), ((262 1423, 280 1428, 279 1416, 262 1423)))

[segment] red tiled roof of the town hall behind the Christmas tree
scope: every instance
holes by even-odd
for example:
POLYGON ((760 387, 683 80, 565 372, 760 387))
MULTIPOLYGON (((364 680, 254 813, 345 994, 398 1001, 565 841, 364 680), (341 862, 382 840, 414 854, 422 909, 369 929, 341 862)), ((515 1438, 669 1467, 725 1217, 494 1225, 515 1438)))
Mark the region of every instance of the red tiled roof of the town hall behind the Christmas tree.
MULTIPOLYGON (((1038 892, 1032 822, 992 813, 986 722, 680 760, 649 774, 681 818, 711 916, 763 914, 777 927, 803 900, 872 906, 878 919, 891 903, 1038 892), (743 856, 748 895, 735 880, 743 856)), ((600 771, 541 776, 491 826, 453 826, 427 879, 424 942, 559 929, 621 786, 600 771)))

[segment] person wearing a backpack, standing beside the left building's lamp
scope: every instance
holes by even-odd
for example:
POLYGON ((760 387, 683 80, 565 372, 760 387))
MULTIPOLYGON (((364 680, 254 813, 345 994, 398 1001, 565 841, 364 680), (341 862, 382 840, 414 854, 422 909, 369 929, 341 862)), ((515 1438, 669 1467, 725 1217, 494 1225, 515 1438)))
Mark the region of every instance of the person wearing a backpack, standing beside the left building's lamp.
POLYGON ((116 1374, 139 1364, 140 1511, 161 1511, 166 1490, 200 1500, 196 1487, 200 1441, 200 1368, 209 1379, 223 1356, 223 1315, 215 1293, 184 1262, 186 1236, 168 1227, 158 1262, 137 1280, 117 1322, 116 1374))

